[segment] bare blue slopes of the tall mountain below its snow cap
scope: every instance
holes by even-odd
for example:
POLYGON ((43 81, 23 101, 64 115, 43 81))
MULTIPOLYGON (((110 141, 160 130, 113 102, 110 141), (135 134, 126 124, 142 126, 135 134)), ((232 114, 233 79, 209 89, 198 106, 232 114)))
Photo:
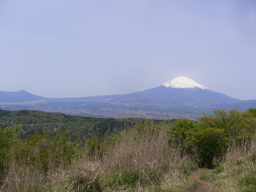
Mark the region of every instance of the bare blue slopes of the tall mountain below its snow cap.
POLYGON ((233 104, 240 101, 242 100, 231 98, 230 96, 209 89, 168 89, 164 86, 158 86, 154 89, 148 89, 134 94, 108 96, 109 103, 158 103, 163 105, 177 105, 182 103, 212 106, 222 103, 233 104))

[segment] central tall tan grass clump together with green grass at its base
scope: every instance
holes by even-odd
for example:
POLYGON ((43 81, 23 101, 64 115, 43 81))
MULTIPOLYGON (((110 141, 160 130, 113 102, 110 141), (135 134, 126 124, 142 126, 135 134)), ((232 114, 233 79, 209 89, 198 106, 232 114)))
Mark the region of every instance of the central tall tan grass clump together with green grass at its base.
POLYGON ((196 168, 191 162, 191 157, 182 156, 181 146, 169 140, 166 131, 134 128, 122 131, 104 152, 102 182, 119 190, 179 186, 184 183, 184 168, 196 168))

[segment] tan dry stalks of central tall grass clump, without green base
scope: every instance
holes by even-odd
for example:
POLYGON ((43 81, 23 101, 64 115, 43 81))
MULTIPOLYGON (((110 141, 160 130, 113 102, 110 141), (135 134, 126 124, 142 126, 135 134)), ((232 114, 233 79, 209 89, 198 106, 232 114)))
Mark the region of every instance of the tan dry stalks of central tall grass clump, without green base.
POLYGON ((169 143, 165 131, 132 129, 122 132, 114 146, 107 148, 104 165, 112 170, 160 174, 179 166, 186 158, 176 143, 169 143))

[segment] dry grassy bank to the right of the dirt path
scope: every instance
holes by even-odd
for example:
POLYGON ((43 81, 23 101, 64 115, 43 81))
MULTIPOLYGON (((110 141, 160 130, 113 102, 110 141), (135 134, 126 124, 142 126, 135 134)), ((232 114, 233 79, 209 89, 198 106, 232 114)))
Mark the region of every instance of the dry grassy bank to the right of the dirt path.
POLYGON ((205 178, 215 182, 215 191, 256 191, 256 136, 243 144, 231 142, 220 167, 205 178))

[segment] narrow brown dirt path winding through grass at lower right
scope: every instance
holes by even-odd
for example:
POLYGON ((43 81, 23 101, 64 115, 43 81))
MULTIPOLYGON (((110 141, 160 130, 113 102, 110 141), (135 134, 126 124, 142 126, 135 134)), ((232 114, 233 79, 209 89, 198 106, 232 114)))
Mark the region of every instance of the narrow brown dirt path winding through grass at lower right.
POLYGON ((189 188, 187 192, 210 192, 213 189, 213 183, 209 181, 202 181, 200 179, 200 176, 202 173, 205 173, 206 171, 201 171, 194 173, 191 178, 194 178, 197 180, 197 184, 193 186, 192 188, 189 188))

